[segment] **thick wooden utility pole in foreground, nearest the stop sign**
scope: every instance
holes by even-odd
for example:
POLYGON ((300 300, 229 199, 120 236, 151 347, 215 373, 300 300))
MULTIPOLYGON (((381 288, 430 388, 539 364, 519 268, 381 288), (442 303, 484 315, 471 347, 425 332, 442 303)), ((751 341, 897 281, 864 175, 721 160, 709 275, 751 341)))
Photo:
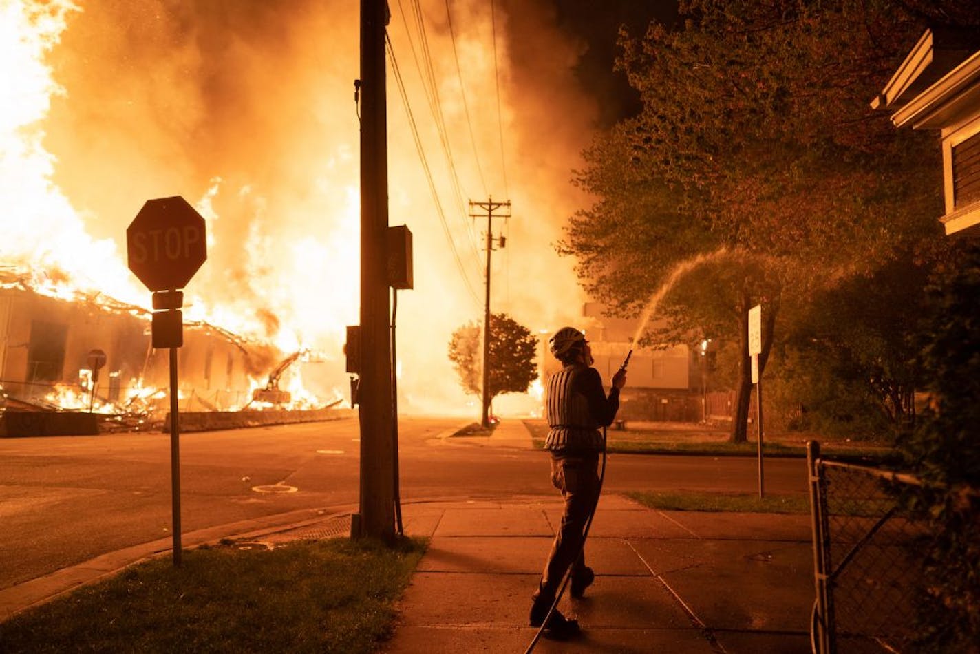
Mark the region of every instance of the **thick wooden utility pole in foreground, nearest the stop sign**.
POLYGON ((361 509, 352 536, 395 538, 387 233, 385 0, 361 0, 361 509))

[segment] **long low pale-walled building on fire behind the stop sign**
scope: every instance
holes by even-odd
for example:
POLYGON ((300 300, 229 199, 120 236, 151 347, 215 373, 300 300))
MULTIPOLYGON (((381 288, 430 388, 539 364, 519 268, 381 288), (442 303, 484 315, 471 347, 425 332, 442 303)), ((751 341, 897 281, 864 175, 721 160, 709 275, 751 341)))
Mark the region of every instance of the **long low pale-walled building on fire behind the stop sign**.
MULTIPOLYGON (((3 282, 4 279, 0 279, 3 282)), ((0 389, 8 410, 157 415, 169 410, 169 351, 151 346, 149 312, 104 297, 71 299, 0 283, 0 389), (101 353, 98 379, 92 354, 101 353), (93 394, 94 388, 94 394, 93 394)), ((279 357, 206 324, 184 327, 177 355, 182 411, 241 408, 279 357)))

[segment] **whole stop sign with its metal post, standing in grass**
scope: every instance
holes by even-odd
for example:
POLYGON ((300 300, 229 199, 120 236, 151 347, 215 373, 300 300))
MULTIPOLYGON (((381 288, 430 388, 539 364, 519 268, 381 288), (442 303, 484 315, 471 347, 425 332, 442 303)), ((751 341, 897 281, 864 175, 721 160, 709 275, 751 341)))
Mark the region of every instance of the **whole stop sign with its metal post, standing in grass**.
POLYGON ((171 482, 173 565, 180 565, 180 438, 177 350, 183 345, 180 307, 187 285, 208 258, 205 223, 179 195, 147 200, 126 227, 129 270, 153 291, 153 347, 171 352, 171 482))

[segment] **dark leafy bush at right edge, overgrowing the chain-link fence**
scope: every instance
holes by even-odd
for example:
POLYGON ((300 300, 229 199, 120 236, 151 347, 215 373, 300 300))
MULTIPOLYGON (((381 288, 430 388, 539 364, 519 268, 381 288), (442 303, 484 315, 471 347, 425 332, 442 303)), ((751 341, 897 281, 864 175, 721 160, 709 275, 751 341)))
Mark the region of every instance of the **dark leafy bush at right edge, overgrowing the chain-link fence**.
POLYGON ((973 652, 980 642, 980 245, 936 271, 921 364, 930 407, 900 441, 921 485, 905 501, 929 521, 918 602, 921 651, 973 652))

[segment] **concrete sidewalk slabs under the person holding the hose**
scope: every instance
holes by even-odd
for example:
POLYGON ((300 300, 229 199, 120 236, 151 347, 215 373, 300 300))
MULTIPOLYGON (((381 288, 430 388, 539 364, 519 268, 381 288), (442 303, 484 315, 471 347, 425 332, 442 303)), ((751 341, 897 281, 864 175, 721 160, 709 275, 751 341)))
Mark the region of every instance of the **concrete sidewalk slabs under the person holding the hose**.
MULTIPOLYGON (((431 538, 385 652, 519 652, 562 515, 541 497, 414 504, 431 538)), ((809 517, 664 512, 606 495, 589 535, 596 581, 565 597, 581 637, 539 652, 809 652, 809 517)))

